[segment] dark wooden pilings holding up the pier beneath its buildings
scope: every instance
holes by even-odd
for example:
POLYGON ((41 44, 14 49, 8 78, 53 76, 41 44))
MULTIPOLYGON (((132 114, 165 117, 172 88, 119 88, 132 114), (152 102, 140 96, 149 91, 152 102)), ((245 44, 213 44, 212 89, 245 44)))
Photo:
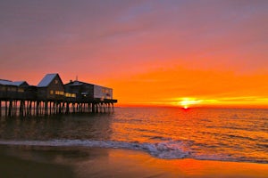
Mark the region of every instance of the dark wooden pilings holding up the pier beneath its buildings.
POLYGON ((0 99, 0 117, 48 116, 71 113, 113 113, 116 100, 38 101, 0 99))

